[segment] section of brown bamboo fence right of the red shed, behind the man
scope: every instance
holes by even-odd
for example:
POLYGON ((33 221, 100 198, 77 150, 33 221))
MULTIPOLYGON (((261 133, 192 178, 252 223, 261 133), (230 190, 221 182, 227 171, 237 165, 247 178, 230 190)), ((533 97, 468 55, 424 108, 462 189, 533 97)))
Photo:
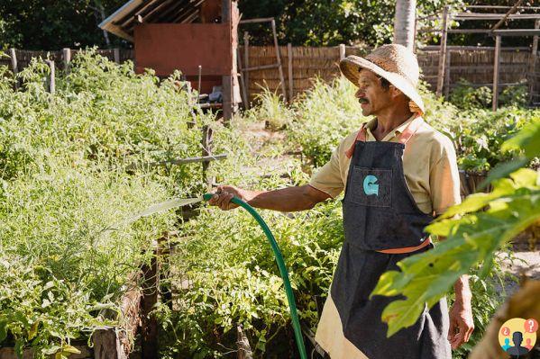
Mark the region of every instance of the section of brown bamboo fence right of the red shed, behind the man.
MULTIPOLYGON (((345 56, 365 55, 370 49, 346 47, 345 56)), ((308 90, 313 78, 321 77, 325 81, 332 80, 339 76, 338 63, 340 60, 339 47, 309 48, 281 46, 281 62, 284 67, 285 83, 289 84, 289 73, 292 72, 292 95, 297 96, 308 90), (292 55, 292 61, 289 62, 289 52, 292 55), (288 64, 291 63, 291 69, 288 70, 288 64)), ((244 49, 241 47, 241 53, 244 49)), ((493 67, 494 53, 492 48, 482 49, 448 49, 446 58, 446 73, 444 75, 444 93, 448 94, 461 79, 470 82, 474 86, 493 85, 493 67)), ((422 78, 432 89, 435 90, 437 76, 439 51, 438 50, 418 50, 418 63, 422 71, 422 78)), ((535 56, 536 62, 538 55, 535 56)), ((527 80, 529 83, 540 81, 540 77, 529 71, 529 64, 532 60, 530 50, 520 49, 501 49, 500 55, 500 78, 499 86, 504 88, 508 85, 517 85, 527 80)), ((275 63, 275 49, 270 46, 252 46, 249 48, 250 67, 258 67, 275 63)), ((540 70, 537 66, 536 71, 540 70)), ((270 90, 281 93, 279 90, 279 71, 277 68, 261 69, 251 71, 249 76, 249 97, 253 100, 256 94, 261 93, 261 86, 268 86, 270 90)), ((288 87, 288 86, 287 86, 288 87)), ((535 85, 535 92, 540 89, 535 85)), ((290 95, 290 90, 288 90, 290 95)), ((538 94, 533 94, 535 97, 538 94)))

